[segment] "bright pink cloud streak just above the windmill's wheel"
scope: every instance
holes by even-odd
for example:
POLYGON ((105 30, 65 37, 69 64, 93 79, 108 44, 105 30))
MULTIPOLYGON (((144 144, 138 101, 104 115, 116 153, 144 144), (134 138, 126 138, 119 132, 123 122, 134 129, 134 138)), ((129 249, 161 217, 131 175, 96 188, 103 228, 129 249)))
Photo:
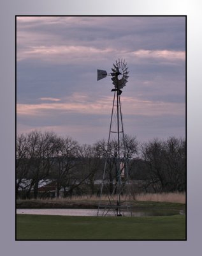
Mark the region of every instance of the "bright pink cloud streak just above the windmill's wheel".
POLYGON ((127 61, 136 62, 138 60, 135 58, 147 58, 147 59, 163 59, 163 60, 183 60, 185 61, 185 51, 150 51, 140 49, 138 51, 128 52, 128 50, 123 49, 119 51, 118 49, 113 49, 106 47, 99 49, 91 46, 83 45, 52 45, 45 46, 41 45, 38 47, 30 47, 17 53, 17 61, 22 61, 25 59, 40 59, 41 61, 53 61, 54 63, 75 63, 78 60, 91 62, 92 59, 99 58, 99 56, 115 56, 115 55, 125 56, 127 61))

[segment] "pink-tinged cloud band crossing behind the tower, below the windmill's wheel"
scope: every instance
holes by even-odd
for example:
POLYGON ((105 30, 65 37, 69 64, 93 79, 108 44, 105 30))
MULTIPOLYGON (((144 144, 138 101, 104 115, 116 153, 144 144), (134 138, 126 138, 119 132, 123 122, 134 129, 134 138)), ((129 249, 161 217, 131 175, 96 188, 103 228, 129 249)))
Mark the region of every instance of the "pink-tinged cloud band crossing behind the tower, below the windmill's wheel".
MULTIPOLYGON (((61 113, 83 113, 106 115, 112 108, 112 97, 90 99, 87 95, 74 93, 63 99, 65 102, 41 104, 17 104, 17 114, 27 116, 50 115, 53 110, 61 113)), ((184 115, 184 104, 173 102, 159 102, 140 100, 133 97, 122 97, 122 107, 126 115, 184 115)), ((57 115, 58 115, 57 114, 57 115)))

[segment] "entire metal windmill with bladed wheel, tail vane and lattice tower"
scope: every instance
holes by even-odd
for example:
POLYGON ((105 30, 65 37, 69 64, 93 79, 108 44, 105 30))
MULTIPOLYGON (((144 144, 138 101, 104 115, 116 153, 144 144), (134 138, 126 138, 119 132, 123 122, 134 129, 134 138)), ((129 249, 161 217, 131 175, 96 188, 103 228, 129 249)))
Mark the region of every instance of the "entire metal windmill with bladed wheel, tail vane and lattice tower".
POLYGON ((126 143, 122 120, 120 95, 126 86, 129 71, 125 60, 115 61, 112 73, 97 70, 97 81, 106 76, 112 76, 114 88, 110 132, 105 148, 105 167, 101 183, 100 200, 97 216, 131 214, 131 205, 128 202, 129 176, 127 172, 126 143), (103 197, 107 200, 103 200, 103 197))

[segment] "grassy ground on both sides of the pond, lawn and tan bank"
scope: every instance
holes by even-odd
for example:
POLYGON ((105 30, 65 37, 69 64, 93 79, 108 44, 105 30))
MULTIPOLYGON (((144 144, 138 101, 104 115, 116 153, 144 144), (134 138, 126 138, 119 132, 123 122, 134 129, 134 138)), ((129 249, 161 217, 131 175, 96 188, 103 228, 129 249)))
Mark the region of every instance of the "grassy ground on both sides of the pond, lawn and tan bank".
MULTIPOLYGON (((103 198, 105 200, 105 198, 103 198)), ((185 211, 185 194, 138 195, 134 209, 185 211)), ((97 208, 97 198, 17 200, 21 209, 97 208)), ((185 240, 185 215, 149 217, 45 216, 17 214, 17 240, 185 240)))

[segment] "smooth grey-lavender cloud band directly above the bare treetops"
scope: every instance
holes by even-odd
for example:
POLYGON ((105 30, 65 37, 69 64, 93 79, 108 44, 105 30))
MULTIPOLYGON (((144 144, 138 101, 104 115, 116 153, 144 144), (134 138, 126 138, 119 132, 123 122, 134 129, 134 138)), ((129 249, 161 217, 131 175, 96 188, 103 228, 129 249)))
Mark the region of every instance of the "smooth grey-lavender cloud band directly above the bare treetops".
MULTIPOLYGON (((53 111, 51 116, 18 115, 17 134, 30 132, 33 129, 39 131, 53 131, 59 136, 71 136, 80 143, 95 143, 102 138, 108 138, 110 127, 110 113, 107 115, 89 115, 88 113, 59 113, 53 111), (27 122, 27 120, 29 122, 27 122), (87 120, 87 122, 85 122, 87 120)), ((124 113, 124 132, 131 136, 137 136, 141 142, 147 142, 152 138, 168 138, 169 136, 185 137, 185 116, 161 115, 143 116, 126 115, 124 113)))

